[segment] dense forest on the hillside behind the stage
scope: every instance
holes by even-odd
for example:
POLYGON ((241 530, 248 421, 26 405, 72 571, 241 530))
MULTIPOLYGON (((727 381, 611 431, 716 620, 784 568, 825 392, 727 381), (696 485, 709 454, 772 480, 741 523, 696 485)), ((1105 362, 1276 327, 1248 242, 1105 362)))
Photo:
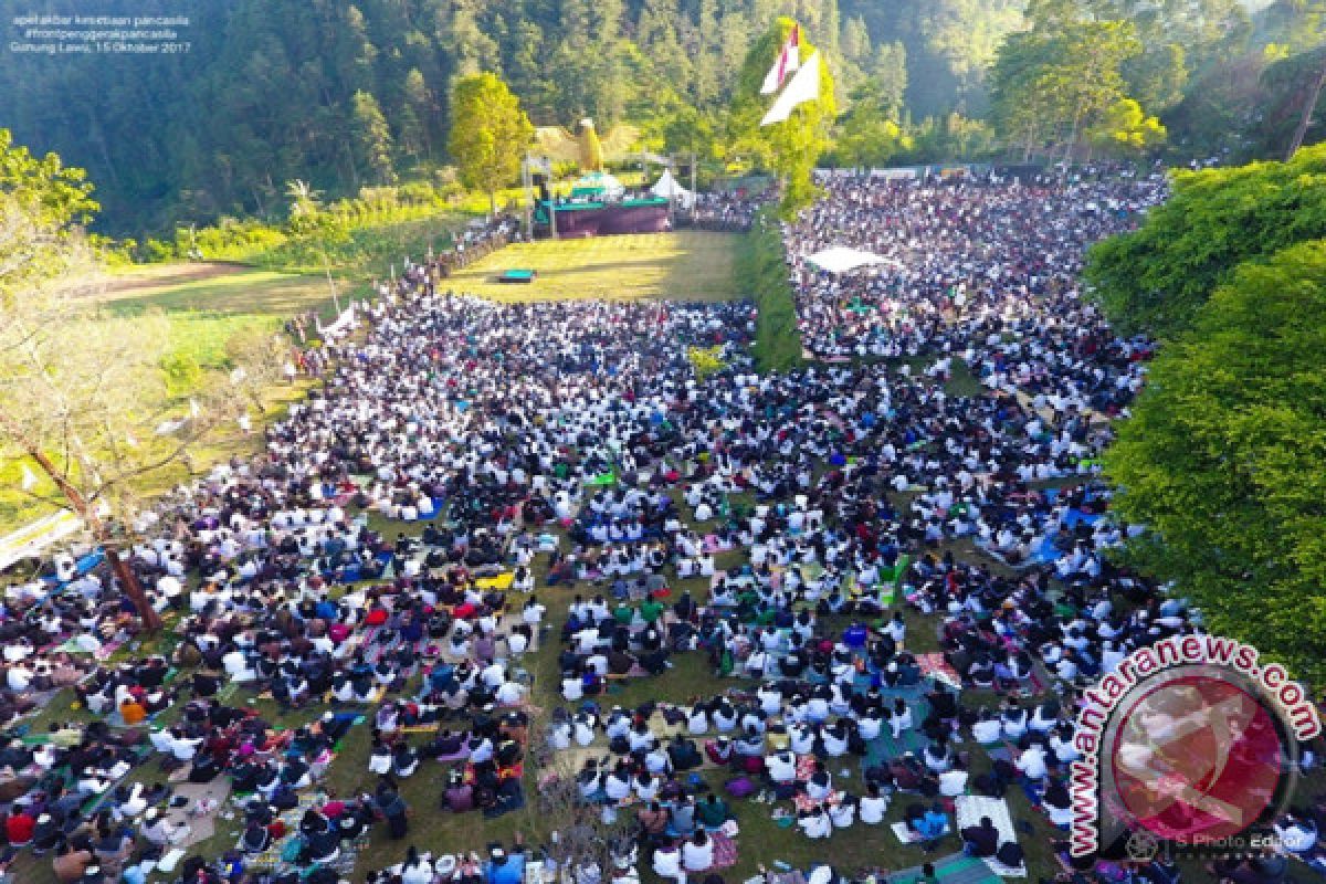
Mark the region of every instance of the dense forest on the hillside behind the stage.
MULTIPOLYGON (((428 174, 451 83, 481 70, 536 126, 629 121, 717 159, 749 45, 792 15, 834 70, 842 144, 878 147, 887 121, 910 133, 890 154, 952 159, 1000 150, 1000 46, 1065 4, 1135 23, 1128 93, 1193 154, 1277 150, 1321 66, 1309 0, 61 0, 44 11, 188 15, 190 52, 0 53, 0 126, 86 167, 114 233, 273 215, 294 178, 353 195, 428 174)), ((5 23, 27 11, 0 0, 5 23)))

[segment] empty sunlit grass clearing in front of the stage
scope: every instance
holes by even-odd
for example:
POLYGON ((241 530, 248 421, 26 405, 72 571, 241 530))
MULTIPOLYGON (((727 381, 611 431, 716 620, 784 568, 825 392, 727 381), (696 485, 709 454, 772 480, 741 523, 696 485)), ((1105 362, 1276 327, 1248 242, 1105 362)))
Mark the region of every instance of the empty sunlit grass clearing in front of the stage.
POLYGON ((728 301, 747 294, 733 266, 737 241, 731 233, 684 231, 517 243, 465 268, 448 285, 499 301, 728 301), (529 285, 497 282, 509 269, 532 269, 538 278, 529 285))

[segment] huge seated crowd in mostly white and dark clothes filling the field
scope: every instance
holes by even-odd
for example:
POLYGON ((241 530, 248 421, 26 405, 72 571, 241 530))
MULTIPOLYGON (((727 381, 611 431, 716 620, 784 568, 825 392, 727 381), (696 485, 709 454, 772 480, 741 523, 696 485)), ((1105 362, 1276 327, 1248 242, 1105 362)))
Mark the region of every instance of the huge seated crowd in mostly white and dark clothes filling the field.
MULTIPOLYGON (((1020 793, 1066 828, 1078 692, 1200 630, 1105 555, 1128 526, 1094 464, 1148 347, 1077 282, 1083 247, 1162 196, 1106 175, 835 179, 785 231, 822 362, 782 375, 747 355, 749 304, 497 305, 446 290, 456 256, 407 264, 261 456, 143 520, 133 566, 179 612, 170 659, 98 661, 134 628, 102 566, 11 588, 9 712, 77 684, 97 717, 11 746, 11 844, 53 851, 68 881, 162 861, 188 838, 158 822, 171 786, 122 789, 146 741, 176 782, 247 795, 236 850, 190 856, 188 880, 334 881, 381 826, 406 854, 355 869, 374 884, 517 884, 521 846, 411 847, 402 782, 431 770, 427 812, 500 816, 525 804, 536 750, 578 753, 577 801, 633 823, 634 848, 583 884, 633 880, 638 856, 679 884, 720 875, 752 802, 806 839, 888 826, 1021 865, 1017 832, 971 808, 1020 793), (842 241, 903 269, 837 278, 798 257, 842 241), (691 346, 727 367, 701 379, 691 346), (985 395, 953 392, 960 372, 985 395), (381 527, 404 522, 424 530, 381 527), (550 594, 570 598, 557 623, 550 594), (939 651, 912 649, 918 628, 939 651), (101 637, 65 644, 84 631, 101 637), (530 733, 524 659, 545 640, 562 705, 530 733), (611 704, 679 655, 704 656, 711 696, 611 704), (314 712, 277 729, 237 691, 314 712), (377 786, 337 797, 324 774, 355 726, 377 786)), ((511 235, 497 220, 467 250, 511 235)))

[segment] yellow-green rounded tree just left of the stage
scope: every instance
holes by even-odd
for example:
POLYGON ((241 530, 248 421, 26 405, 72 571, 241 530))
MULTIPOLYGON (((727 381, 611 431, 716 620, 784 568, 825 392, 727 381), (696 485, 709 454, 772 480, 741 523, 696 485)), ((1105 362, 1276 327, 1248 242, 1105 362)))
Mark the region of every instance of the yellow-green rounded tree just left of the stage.
POLYGON ((534 137, 520 99, 496 74, 483 73, 456 81, 451 97, 448 148, 465 187, 488 193, 497 211, 497 190, 516 180, 520 163, 534 137))

